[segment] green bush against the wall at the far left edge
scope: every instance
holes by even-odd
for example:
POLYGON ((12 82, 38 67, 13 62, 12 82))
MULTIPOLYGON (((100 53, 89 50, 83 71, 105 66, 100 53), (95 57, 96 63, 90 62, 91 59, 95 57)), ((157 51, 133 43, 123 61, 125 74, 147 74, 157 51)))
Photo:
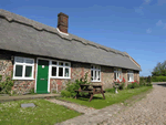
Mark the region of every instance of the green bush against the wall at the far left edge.
POLYGON ((10 94, 13 86, 13 81, 9 76, 6 77, 4 82, 0 82, 0 93, 10 94))

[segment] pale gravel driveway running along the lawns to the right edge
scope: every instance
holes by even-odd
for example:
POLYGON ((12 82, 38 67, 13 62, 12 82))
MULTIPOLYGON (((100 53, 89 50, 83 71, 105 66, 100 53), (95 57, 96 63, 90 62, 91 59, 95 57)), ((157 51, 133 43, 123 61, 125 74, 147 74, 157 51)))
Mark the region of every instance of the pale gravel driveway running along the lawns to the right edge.
POLYGON ((166 125, 166 84, 153 86, 132 106, 115 104, 56 125, 166 125))

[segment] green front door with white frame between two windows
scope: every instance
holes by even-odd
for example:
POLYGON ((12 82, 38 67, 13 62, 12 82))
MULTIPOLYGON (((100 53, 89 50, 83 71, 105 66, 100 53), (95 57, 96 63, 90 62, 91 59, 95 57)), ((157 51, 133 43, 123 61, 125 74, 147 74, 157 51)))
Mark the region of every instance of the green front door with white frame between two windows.
POLYGON ((38 60, 37 93, 48 93, 49 61, 38 60))

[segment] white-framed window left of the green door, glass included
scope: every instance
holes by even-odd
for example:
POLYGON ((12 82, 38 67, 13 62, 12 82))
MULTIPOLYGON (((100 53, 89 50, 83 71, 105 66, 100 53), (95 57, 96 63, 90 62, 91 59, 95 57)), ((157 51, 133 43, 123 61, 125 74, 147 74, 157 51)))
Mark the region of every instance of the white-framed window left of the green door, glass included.
POLYGON ((13 80, 32 80, 34 60, 14 56, 13 80))

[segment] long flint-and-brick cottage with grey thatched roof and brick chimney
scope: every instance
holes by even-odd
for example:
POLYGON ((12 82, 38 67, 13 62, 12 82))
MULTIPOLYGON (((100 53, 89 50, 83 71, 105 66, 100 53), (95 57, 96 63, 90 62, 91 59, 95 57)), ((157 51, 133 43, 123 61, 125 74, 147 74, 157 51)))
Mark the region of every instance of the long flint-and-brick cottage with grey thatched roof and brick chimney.
POLYGON ((0 10, 0 75, 14 80, 13 91, 61 91, 87 73, 89 82, 112 87, 113 80, 139 81, 139 64, 126 52, 103 46, 68 32, 68 19, 58 14, 58 28, 0 10))

